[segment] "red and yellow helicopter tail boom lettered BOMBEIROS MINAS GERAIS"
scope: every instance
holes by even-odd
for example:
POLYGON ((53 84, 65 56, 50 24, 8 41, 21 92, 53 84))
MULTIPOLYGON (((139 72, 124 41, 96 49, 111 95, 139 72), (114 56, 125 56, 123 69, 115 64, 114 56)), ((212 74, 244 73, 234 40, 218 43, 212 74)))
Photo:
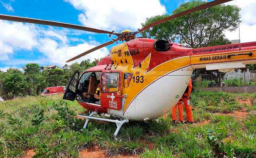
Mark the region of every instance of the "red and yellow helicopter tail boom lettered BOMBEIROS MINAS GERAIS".
POLYGON ((244 68, 247 64, 256 64, 256 42, 196 48, 190 60, 194 69, 244 68))

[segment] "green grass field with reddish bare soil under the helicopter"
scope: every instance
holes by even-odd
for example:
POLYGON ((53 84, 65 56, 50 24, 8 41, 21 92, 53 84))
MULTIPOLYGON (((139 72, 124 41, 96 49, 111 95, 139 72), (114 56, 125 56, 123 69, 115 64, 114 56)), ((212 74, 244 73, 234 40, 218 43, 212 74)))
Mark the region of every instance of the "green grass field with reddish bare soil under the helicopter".
MULTIPOLYGON (((256 157, 255 93, 194 92, 195 124, 172 124, 171 112, 157 121, 116 125, 91 121, 62 95, 25 97, 0 103, 0 157, 256 157)), ((186 116, 184 116, 186 117, 186 116)))

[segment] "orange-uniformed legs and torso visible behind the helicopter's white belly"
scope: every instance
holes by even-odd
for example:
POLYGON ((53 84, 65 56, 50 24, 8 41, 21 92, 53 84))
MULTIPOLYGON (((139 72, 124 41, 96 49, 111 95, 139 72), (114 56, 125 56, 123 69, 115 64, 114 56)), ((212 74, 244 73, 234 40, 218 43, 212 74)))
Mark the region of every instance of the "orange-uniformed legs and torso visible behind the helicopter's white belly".
MULTIPOLYGON (((181 123, 183 123, 183 104, 185 107, 185 111, 187 114, 187 121, 185 123, 193 123, 193 116, 192 116, 192 110, 191 110, 191 106, 190 106, 190 93, 192 91, 192 81, 191 79, 188 82, 188 87, 185 90, 183 96, 180 98, 179 102, 178 102, 178 110, 179 110, 179 121, 181 121, 181 123), (182 104, 183 103, 183 104, 182 104)), ((177 116, 176 116, 176 109, 177 109, 177 105, 175 105, 172 108, 172 121, 175 122, 177 120, 177 116)))

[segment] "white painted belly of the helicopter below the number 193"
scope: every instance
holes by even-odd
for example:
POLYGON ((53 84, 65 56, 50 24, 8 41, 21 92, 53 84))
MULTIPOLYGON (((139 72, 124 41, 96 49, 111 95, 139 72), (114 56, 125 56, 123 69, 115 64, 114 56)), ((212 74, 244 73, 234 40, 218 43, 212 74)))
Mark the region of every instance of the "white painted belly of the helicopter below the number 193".
POLYGON ((161 117, 178 102, 192 72, 193 69, 187 67, 162 76, 134 98, 124 115, 123 110, 110 110, 109 113, 130 120, 153 120, 161 117))

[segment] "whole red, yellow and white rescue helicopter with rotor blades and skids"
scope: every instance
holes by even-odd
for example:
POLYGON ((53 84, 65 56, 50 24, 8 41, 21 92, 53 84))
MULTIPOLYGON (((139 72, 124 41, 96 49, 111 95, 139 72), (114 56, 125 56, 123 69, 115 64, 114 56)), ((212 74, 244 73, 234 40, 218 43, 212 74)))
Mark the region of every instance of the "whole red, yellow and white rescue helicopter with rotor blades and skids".
POLYGON ((117 36, 116 39, 85 51, 67 62, 115 42, 125 41, 112 47, 109 55, 97 61, 96 66, 81 74, 76 71, 63 96, 64 100, 76 100, 79 105, 92 112, 89 116, 78 115, 86 118, 84 128, 90 119, 114 122, 117 125, 114 136, 117 136, 124 123, 155 120, 169 112, 180 100, 195 69, 229 72, 235 68, 245 68, 246 64, 256 64, 256 42, 187 48, 165 40, 136 37, 136 34, 158 24, 228 1, 231 0, 207 2, 134 32, 124 30, 116 33, 2 14, 0 19, 117 36))

